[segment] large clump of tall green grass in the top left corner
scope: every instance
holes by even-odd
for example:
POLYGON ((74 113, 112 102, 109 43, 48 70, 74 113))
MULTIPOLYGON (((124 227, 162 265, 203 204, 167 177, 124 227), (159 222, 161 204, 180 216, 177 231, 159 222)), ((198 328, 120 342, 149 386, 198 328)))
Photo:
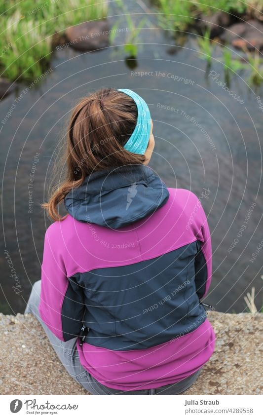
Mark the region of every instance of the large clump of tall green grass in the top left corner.
POLYGON ((0 71, 9 80, 32 80, 48 67, 52 35, 68 26, 101 19, 97 0, 0 0, 0 71))

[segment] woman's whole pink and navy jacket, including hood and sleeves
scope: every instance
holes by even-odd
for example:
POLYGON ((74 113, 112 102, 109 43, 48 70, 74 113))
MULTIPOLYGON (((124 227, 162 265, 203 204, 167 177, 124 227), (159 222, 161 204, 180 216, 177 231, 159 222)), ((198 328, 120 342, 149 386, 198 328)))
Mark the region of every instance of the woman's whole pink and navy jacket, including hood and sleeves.
POLYGON ((49 329, 65 342, 85 328, 80 362, 111 388, 156 388, 201 368, 215 333, 200 303, 212 254, 198 198, 134 165, 94 172, 64 202, 69 214, 44 240, 49 329))

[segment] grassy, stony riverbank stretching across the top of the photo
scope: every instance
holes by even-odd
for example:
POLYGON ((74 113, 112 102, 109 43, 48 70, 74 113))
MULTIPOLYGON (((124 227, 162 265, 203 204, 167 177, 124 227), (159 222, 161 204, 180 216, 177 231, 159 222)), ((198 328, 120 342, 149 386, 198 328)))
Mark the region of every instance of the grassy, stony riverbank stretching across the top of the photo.
POLYGON ((99 4, 94 0, 68 3, 46 0, 44 4, 40 0, 11 0, 11 3, 12 7, 6 8, 5 2, 0 0, 3 27, 0 99, 20 82, 35 82, 46 71, 53 71, 51 61, 64 48, 71 47, 82 53, 100 51, 117 46, 114 39, 120 34, 120 56, 136 59, 138 44, 144 43, 141 31, 152 26, 149 19, 152 15, 155 15, 154 27, 168 31, 171 46, 183 47, 186 34, 195 34, 200 58, 207 61, 208 67, 214 60, 215 46, 221 45, 222 56, 216 56, 215 61, 224 65, 227 84, 230 75, 245 69, 251 73, 249 83, 260 85, 263 81, 263 5, 259 0, 222 0, 219 7, 211 0, 147 1, 148 5, 142 2, 139 6, 140 22, 134 20, 134 16, 131 18, 125 1, 116 0, 114 7, 108 0, 99 4), (118 19, 112 20, 112 14, 119 16, 118 19), (121 21, 120 17, 123 17, 121 21))

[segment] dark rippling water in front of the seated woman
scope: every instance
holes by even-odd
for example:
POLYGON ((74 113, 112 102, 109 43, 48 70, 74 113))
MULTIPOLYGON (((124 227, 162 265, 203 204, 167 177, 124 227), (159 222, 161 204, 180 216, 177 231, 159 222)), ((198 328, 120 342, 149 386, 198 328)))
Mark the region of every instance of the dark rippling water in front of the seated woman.
MULTIPOLYGON (((139 6, 138 11, 142 11, 139 6)), ((120 19, 119 27, 125 26, 120 19)), ((219 48, 210 69, 219 76, 213 80, 195 52, 194 38, 171 49, 176 41, 153 24, 149 26, 151 29, 141 33, 137 67, 133 70, 120 47, 84 54, 65 48, 55 53, 53 70, 42 82, 26 93, 23 85, 0 103, 1 119, 15 104, 8 121, 1 124, 4 240, 0 311, 21 312, 32 283, 40 277, 43 236, 50 223, 39 203, 50 177, 50 160, 75 100, 102 86, 131 88, 145 98, 150 104, 156 143, 150 167, 167 186, 190 189, 202 197, 212 235, 214 270, 206 301, 221 311, 243 311, 243 297, 254 285, 256 305, 261 307, 263 250, 257 252, 257 246, 263 240, 263 112, 256 97, 263 100, 263 89, 255 92, 242 77, 235 76, 230 96, 219 85, 220 81, 224 83, 223 66, 217 61, 219 48), (138 76, 131 71, 150 73, 138 76), (39 162, 31 185, 37 152, 39 162), (28 213, 29 184, 34 201, 32 214, 28 213), (256 205, 248 219, 253 203, 256 205), (246 228, 240 232, 242 225, 246 228), (5 260, 4 249, 15 272, 5 260), (251 262, 255 252, 257 257, 251 262), (21 292, 15 293, 13 287, 18 280, 21 292)), ((120 33, 114 42, 122 44, 124 34, 120 33)))

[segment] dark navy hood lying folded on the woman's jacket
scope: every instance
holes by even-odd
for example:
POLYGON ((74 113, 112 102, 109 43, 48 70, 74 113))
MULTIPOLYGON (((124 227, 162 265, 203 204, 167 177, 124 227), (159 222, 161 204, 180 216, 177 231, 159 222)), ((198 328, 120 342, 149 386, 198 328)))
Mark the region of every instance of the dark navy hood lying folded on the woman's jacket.
POLYGON ((168 197, 161 179, 140 164, 92 173, 66 195, 64 203, 78 221, 118 229, 150 215, 168 197))

